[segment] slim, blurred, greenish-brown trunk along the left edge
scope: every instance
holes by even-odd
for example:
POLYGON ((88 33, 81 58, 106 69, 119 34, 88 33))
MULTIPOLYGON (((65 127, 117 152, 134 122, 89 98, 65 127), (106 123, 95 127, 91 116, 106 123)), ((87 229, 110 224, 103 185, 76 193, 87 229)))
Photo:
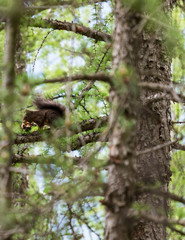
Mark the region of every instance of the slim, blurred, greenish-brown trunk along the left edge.
MULTIPOLYGON (((10 0, 9 16, 6 19, 5 26, 5 48, 4 48, 4 71, 2 76, 2 127, 4 148, 2 148, 1 156, 3 158, 3 171, 1 175, 1 202, 2 213, 7 214, 12 206, 12 173, 9 168, 12 165, 13 158, 13 109, 15 102, 15 53, 16 53, 16 36, 19 28, 20 20, 20 1, 10 0), (5 211, 5 212, 3 212, 5 211)), ((8 224, 7 224, 8 225, 8 224)), ((9 224, 10 225, 10 224, 9 224)), ((11 226, 6 226, 11 228, 11 226)), ((3 239, 11 240, 12 236, 3 239)))

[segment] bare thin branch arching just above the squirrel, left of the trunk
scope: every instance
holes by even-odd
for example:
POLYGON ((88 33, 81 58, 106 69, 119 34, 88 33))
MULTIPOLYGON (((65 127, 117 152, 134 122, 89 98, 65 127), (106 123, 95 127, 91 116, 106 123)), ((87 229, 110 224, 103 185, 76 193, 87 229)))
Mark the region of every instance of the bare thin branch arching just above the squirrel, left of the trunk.
MULTIPOLYGON (((45 79, 42 82, 39 82, 39 84, 45 84, 45 83, 65 83, 65 82, 71 82, 71 81, 102 81, 106 82, 112 85, 112 77, 111 75, 106 75, 105 73, 94 73, 94 74, 78 74, 74 76, 68 76, 68 77, 61 77, 61 78, 53 78, 53 79, 45 79)), ((36 85, 38 83, 35 83, 36 85)))

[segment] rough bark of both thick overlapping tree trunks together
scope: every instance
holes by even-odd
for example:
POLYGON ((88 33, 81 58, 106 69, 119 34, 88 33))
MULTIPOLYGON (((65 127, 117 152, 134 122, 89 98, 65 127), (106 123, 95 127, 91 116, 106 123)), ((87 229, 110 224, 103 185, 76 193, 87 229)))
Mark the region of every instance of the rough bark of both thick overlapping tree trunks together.
MULTIPOLYGON (((133 66, 139 81, 168 84, 171 62, 162 45, 159 32, 141 30, 141 17, 124 8, 115 0, 115 31, 113 69, 123 73, 123 63, 133 66)), ((115 80, 116 81, 116 80, 115 80)), ((160 100, 147 105, 146 99, 156 92, 141 90, 139 97, 132 94, 130 78, 123 77, 125 91, 112 88, 110 113, 110 167, 105 196, 106 240, 164 240, 165 226, 133 217, 131 205, 140 204, 148 216, 167 217, 167 200, 150 194, 136 194, 137 186, 168 191, 170 181, 170 147, 135 156, 143 151, 170 141, 170 102, 160 100), (136 99, 137 98, 137 99, 136 99), (117 116, 119 114, 119 116, 117 116), (124 119, 124 121, 120 121, 124 119), (128 122, 135 122, 129 125, 128 122), (126 124, 125 124, 126 122, 126 124), (131 225, 133 227, 131 227, 131 225)))

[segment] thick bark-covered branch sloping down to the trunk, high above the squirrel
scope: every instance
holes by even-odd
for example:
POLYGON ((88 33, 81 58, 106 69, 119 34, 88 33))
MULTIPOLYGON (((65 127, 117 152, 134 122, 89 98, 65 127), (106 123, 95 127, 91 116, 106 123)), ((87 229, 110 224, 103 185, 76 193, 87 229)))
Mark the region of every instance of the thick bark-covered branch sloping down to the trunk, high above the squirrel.
POLYGON ((112 36, 110 34, 96 31, 88 27, 85 27, 83 25, 79 25, 77 23, 61 22, 61 21, 52 20, 52 19, 31 19, 29 22, 29 26, 71 31, 89 38, 93 38, 96 41, 105 41, 105 42, 112 41, 112 36))

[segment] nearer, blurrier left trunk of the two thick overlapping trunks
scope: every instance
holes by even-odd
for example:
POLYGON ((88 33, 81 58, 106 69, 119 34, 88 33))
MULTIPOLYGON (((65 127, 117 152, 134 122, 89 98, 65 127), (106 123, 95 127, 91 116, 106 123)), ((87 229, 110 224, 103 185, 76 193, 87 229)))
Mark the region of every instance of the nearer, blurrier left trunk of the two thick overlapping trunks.
MULTIPOLYGON (((110 112, 110 166, 108 187, 105 196, 106 240, 132 239, 133 218, 130 207, 133 202, 135 179, 135 108, 136 95, 132 90, 137 83, 133 76, 127 76, 127 67, 133 59, 134 34, 129 26, 127 11, 120 1, 115 1, 115 32, 113 44, 113 69, 121 75, 115 78, 115 88, 110 91, 112 110, 110 112), (119 82, 118 82, 119 81, 119 82), (119 116, 118 116, 119 114, 119 116)), ((137 19, 129 16, 132 25, 137 19)))

